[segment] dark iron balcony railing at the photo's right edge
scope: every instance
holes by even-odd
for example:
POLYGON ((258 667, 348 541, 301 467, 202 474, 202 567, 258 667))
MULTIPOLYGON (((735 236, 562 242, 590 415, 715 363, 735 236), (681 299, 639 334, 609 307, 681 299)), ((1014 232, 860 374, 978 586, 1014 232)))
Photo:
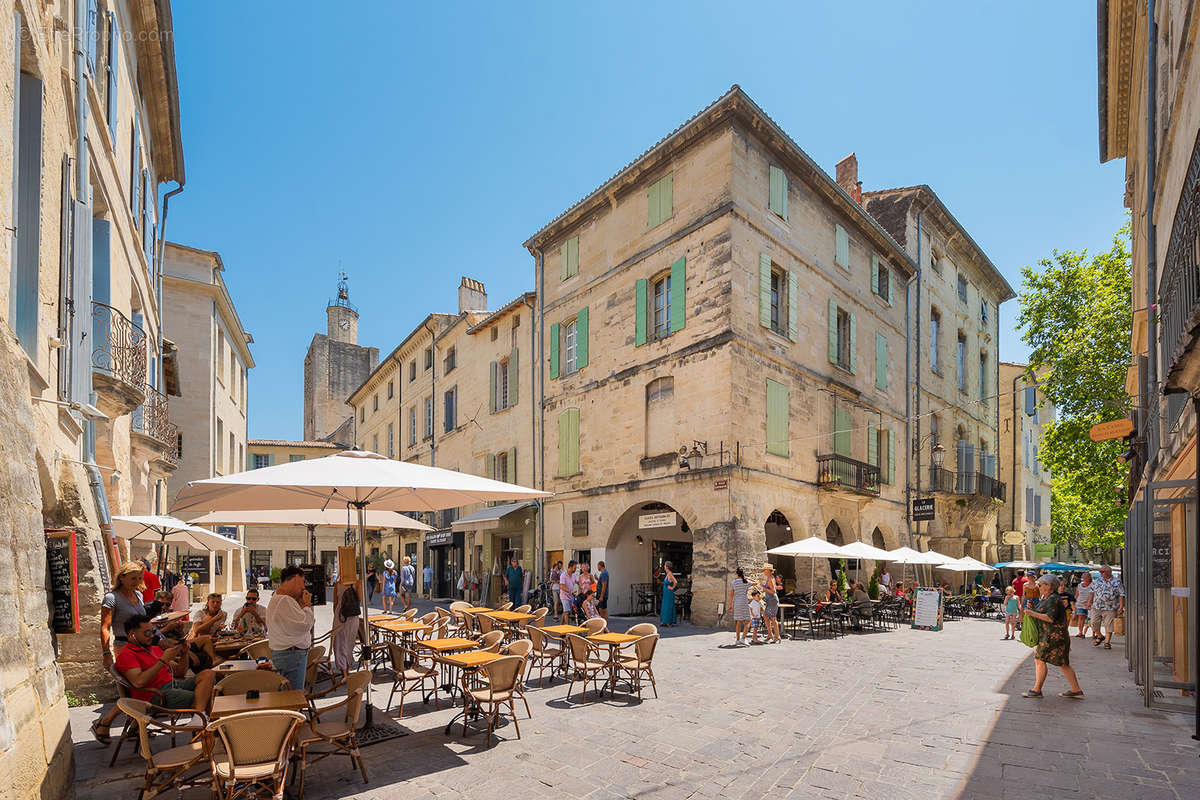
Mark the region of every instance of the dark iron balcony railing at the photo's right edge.
MULTIPOLYGON (((1162 350, 1162 380, 1177 384, 1181 361, 1192 349, 1200 325, 1200 133, 1192 149, 1192 162, 1183 176, 1180 203, 1171 224, 1163 276, 1158 284, 1158 341, 1162 350)), ((1157 389, 1157 387, 1152 387, 1157 389)))

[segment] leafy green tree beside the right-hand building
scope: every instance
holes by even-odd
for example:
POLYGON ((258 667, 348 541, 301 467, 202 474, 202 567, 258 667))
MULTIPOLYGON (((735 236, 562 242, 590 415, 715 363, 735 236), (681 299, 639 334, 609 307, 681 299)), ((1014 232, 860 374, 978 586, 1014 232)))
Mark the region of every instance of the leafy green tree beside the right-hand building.
POLYGON ((1129 413, 1129 266, 1126 223, 1105 253, 1054 251, 1037 267, 1021 270, 1018 329, 1031 349, 1030 373, 1057 411, 1039 449, 1050 470, 1050 533, 1057 543, 1109 548, 1123 536, 1127 509, 1117 492, 1128 468, 1117 456, 1126 445, 1094 443, 1087 431, 1129 413))

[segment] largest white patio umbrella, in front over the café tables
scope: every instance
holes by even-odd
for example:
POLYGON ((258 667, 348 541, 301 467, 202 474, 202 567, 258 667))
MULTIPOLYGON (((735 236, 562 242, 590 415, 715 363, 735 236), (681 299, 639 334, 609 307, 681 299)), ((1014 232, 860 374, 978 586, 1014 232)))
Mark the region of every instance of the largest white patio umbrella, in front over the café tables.
MULTIPOLYGON (((290 511, 295 509, 353 507, 358 511, 359 573, 367 572, 366 512, 438 511, 488 500, 529 500, 551 497, 514 483, 466 475, 449 469, 394 461, 365 450, 346 450, 264 467, 233 475, 192 481, 175 498, 173 511, 290 511)), ((362 606, 370 631, 371 609, 362 606)), ((367 724, 371 724, 371 686, 367 685, 367 724)))

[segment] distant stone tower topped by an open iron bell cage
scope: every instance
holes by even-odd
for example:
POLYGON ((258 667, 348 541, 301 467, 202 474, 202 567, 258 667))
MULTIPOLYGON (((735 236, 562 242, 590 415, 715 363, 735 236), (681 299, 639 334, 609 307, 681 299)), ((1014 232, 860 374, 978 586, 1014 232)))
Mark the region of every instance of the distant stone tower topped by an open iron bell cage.
POLYGON ((359 312, 350 305, 344 273, 325 317, 328 332, 313 335, 304 357, 304 438, 312 441, 336 434, 340 441, 350 443, 353 422, 346 398, 378 366, 379 348, 359 344, 359 312))

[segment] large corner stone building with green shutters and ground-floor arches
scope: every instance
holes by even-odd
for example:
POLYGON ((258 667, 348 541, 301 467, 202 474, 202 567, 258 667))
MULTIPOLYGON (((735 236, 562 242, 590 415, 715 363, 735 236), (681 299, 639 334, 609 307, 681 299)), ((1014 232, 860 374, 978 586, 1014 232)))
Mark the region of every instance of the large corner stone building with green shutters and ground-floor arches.
POLYGON ((526 246, 544 548, 606 561, 614 613, 664 560, 712 624, 769 547, 907 542, 914 259, 739 88, 526 246))

